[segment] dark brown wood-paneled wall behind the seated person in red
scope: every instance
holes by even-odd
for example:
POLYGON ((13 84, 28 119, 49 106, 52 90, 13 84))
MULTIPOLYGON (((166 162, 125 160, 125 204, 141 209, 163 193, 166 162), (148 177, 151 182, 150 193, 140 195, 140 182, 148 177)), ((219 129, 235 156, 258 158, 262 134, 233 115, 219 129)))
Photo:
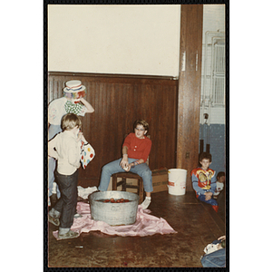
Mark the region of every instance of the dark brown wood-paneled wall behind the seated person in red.
POLYGON ((48 102, 63 96, 64 83, 81 80, 94 108, 83 118, 83 134, 95 150, 86 170, 80 169, 79 185, 98 186, 102 166, 121 158, 123 136, 133 131, 133 122, 150 124, 151 170, 176 168, 178 81, 170 77, 48 73, 48 102))

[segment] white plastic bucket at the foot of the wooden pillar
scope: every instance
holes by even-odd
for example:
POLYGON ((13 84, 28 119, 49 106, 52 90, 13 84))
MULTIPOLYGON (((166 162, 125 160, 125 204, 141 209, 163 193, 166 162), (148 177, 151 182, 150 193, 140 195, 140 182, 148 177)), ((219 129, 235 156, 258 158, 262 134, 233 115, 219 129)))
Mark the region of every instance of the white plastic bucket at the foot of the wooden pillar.
POLYGON ((170 195, 181 196, 186 192, 187 170, 170 169, 168 170, 168 192, 170 195))

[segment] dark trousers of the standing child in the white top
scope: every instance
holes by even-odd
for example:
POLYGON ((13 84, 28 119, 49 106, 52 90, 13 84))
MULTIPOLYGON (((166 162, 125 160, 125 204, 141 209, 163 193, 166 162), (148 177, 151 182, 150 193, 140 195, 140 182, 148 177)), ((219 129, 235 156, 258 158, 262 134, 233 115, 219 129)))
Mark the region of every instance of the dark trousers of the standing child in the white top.
POLYGON ((60 228, 71 228, 77 204, 78 170, 72 175, 62 175, 56 171, 56 180, 61 190, 61 198, 53 209, 61 213, 60 228))

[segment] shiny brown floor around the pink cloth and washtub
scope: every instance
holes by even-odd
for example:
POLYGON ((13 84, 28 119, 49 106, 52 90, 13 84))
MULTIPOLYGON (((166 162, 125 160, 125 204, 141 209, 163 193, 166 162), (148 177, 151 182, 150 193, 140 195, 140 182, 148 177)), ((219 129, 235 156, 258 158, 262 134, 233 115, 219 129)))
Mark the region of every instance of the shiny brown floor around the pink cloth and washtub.
POLYGON ((52 234, 57 227, 49 223, 48 267, 202 267, 203 249, 225 235, 225 222, 194 192, 151 197, 151 215, 166 219, 178 233, 122 238, 91 231, 57 241, 52 234))

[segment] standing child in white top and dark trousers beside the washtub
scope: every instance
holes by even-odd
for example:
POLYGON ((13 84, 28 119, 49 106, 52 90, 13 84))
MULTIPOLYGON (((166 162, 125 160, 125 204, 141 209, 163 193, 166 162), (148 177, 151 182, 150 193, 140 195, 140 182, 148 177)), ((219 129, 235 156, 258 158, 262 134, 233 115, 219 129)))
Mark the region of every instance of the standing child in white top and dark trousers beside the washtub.
POLYGON ((63 132, 48 142, 48 155, 58 160, 56 180, 61 190, 61 198, 48 213, 48 221, 59 227, 58 238, 77 238, 73 232, 73 216, 77 205, 78 168, 81 159, 81 141, 85 141, 80 132, 82 121, 74 113, 63 116, 63 132))

